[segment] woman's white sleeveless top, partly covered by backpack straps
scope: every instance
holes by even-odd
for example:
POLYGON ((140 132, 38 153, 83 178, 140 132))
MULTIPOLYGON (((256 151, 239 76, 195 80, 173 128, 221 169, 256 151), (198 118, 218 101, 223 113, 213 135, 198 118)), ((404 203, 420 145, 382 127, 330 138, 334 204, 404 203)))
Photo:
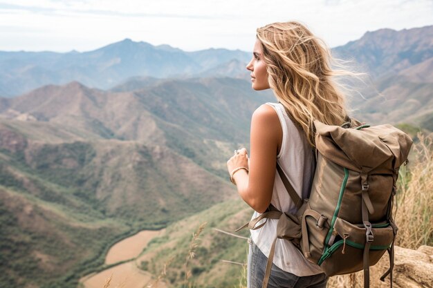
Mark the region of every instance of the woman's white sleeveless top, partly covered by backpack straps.
MULTIPOLYGON (((314 156, 311 146, 304 134, 288 117, 282 104, 266 104, 272 106, 277 112, 283 130, 282 146, 277 155, 277 162, 296 193, 301 198, 308 198, 314 173, 314 156)), ((277 171, 275 171, 275 182, 270 202, 279 211, 291 211, 292 213, 296 211, 295 204, 288 195, 277 171)), ((260 213, 255 211, 252 219, 257 218, 259 215, 260 213)), ((250 230, 252 241, 255 242, 266 257, 269 257, 270 246, 277 234, 277 222, 276 219, 268 219, 264 227, 250 230)), ((277 239, 273 263, 280 269, 296 276, 311 276, 323 273, 318 265, 306 260, 302 253, 288 240, 277 239)))

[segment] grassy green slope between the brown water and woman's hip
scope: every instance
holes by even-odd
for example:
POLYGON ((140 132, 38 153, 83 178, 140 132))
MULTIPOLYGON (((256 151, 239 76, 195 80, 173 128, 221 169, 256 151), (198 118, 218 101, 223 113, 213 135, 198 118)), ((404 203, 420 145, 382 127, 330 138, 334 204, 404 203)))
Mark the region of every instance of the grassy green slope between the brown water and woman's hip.
MULTIPOLYGON (((188 279, 195 287, 234 287, 239 284, 243 266, 225 261, 245 263, 248 243, 214 230, 233 232, 250 220, 252 209, 241 200, 223 202, 196 215, 171 224, 163 236, 152 240, 145 251, 136 260, 145 271, 158 276, 167 265, 167 276, 163 281, 169 287, 183 287, 185 271, 191 273, 188 279), (194 249, 196 256, 190 259, 185 270, 185 258, 190 251, 192 232, 205 224, 198 246, 194 249)), ((245 229, 237 233, 248 237, 245 229)))

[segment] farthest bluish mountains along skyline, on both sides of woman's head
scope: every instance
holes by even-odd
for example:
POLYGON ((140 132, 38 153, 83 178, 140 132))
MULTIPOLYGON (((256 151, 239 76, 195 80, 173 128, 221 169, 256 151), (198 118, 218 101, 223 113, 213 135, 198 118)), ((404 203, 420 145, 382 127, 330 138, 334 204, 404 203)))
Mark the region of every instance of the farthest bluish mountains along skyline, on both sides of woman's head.
MULTIPOLYGON (((361 70, 378 79, 430 59, 432 27, 367 32, 333 52, 354 59, 357 65, 362 64, 361 70)), ((245 77, 250 57, 241 50, 185 52, 131 39, 88 52, 0 51, 0 96, 14 97, 46 84, 70 81, 109 89, 131 77, 245 77)))

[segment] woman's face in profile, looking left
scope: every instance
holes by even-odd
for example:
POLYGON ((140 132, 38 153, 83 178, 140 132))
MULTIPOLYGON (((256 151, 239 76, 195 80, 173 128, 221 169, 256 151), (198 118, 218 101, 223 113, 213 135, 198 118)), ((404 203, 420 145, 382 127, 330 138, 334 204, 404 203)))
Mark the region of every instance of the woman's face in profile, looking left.
POLYGON ((261 43, 258 39, 252 50, 252 59, 246 68, 251 71, 251 86, 254 90, 270 88, 268 71, 266 70, 266 63, 263 59, 263 50, 261 49, 261 43))

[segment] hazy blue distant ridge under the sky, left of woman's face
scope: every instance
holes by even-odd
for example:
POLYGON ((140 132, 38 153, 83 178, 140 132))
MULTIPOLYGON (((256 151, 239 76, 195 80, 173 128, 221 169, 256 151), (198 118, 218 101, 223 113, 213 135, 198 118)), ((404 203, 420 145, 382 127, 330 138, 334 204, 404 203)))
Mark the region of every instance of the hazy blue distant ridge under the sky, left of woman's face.
POLYGON ((0 52, 0 93, 11 97, 70 81, 107 89, 136 76, 199 75, 232 59, 247 61, 249 54, 226 49, 185 52, 131 39, 89 52, 0 52))

